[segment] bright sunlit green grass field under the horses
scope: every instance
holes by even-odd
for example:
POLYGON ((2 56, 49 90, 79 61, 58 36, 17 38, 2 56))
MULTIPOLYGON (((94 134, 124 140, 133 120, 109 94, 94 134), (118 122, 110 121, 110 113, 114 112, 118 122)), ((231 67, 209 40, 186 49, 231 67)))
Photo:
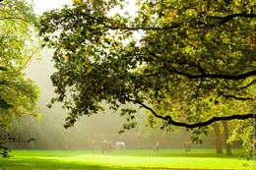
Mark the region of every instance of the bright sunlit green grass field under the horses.
POLYGON ((252 169, 253 161, 216 154, 214 149, 126 150, 126 153, 92 153, 90 150, 14 150, 11 158, 0 158, 0 169, 252 169), (244 166, 245 165, 245 166, 244 166))

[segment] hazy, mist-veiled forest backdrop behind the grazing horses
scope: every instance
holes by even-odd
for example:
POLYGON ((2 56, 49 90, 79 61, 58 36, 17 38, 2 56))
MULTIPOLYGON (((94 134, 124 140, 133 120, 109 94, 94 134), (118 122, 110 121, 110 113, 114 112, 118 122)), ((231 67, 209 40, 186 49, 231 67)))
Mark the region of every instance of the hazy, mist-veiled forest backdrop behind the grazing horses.
MULTIPOLYGON (((64 129, 66 110, 61 105, 54 105, 49 109, 46 105, 54 95, 50 75, 54 72, 53 63, 50 62, 52 50, 45 49, 41 52, 41 61, 32 61, 26 70, 27 77, 36 82, 40 87, 40 97, 37 103, 38 114, 41 117, 34 119, 32 116, 23 116, 13 126, 12 133, 24 139, 34 138, 34 142, 10 142, 8 146, 16 149, 91 149, 92 141, 96 148, 100 148, 102 141, 124 141, 127 148, 152 148, 160 142, 160 148, 184 148, 184 143, 191 141, 191 132, 185 128, 174 128, 173 132, 164 132, 160 126, 153 129, 146 127, 147 116, 138 113, 139 125, 133 130, 118 134, 122 124, 126 122, 118 112, 107 111, 81 118, 74 127, 64 129)), ((231 132, 231 131, 230 131, 231 132)), ((203 136, 204 143, 193 144, 192 148, 216 147, 215 134, 212 130, 209 136, 203 136)), ((222 137, 224 145, 224 135, 222 137)), ((232 147, 240 148, 241 142, 234 142, 232 147)))

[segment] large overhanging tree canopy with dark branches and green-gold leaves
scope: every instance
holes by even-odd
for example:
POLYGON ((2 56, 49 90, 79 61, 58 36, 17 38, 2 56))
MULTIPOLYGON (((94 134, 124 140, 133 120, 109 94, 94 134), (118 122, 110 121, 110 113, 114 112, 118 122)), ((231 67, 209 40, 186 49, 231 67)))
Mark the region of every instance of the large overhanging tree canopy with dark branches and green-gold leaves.
POLYGON ((109 15, 125 3, 75 0, 40 18, 44 45, 55 49, 51 104, 63 102, 69 110, 66 128, 103 111, 102 102, 128 115, 124 129, 136 125, 128 103, 163 127, 252 118, 255 1, 140 0, 137 16, 109 15), (224 106, 246 109, 222 112, 224 106))

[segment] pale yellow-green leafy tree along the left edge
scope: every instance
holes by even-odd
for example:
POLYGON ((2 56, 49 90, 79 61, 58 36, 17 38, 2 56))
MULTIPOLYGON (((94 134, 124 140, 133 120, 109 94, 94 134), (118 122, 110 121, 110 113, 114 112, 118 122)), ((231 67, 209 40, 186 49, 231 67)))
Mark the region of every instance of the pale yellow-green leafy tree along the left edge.
POLYGON ((25 0, 5 0, 0 3, 0 149, 8 155, 6 142, 26 141, 8 133, 12 123, 22 115, 36 116, 38 86, 23 73, 38 55, 33 25, 36 17, 32 5, 25 0))

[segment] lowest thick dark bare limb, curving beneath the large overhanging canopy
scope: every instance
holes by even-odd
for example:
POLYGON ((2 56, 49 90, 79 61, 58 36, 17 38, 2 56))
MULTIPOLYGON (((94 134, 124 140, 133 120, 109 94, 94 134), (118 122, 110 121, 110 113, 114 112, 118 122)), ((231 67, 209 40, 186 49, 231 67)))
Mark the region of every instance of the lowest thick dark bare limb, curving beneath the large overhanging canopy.
POLYGON ((187 124, 187 123, 173 121, 170 116, 165 116, 165 117, 160 116, 151 107, 147 106, 146 104, 142 103, 141 101, 137 101, 137 100, 134 100, 134 99, 131 99, 131 98, 128 98, 128 97, 125 97, 125 98, 128 101, 140 104, 145 109, 151 111, 154 114, 155 117, 167 121, 167 123, 169 125, 174 125, 174 126, 178 126, 178 127, 185 127, 185 128, 189 128, 189 129, 208 126, 208 125, 210 125, 214 122, 217 122, 217 121, 228 121, 228 120, 233 120, 233 119, 244 120, 244 119, 249 119, 249 118, 253 117, 253 114, 232 115, 232 116, 226 116, 226 117, 213 117, 212 119, 210 119, 208 121, 205 121, 205 122, 200 122, 200 123, 195 123, 195 124, 187 124))

